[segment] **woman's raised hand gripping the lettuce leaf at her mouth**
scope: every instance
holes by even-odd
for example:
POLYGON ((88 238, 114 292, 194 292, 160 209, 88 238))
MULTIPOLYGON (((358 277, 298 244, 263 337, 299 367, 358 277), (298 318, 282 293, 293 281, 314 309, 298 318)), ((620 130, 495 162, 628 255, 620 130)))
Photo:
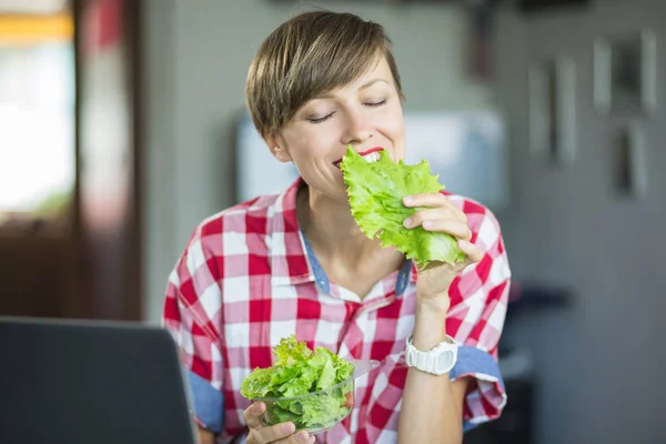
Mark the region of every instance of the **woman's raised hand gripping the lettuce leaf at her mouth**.
POLYGON ((416 294, 421 301, 436 302, 438 306, 448 309, 448 286, 453 280, 470 264, 481 261, 483 252, 470 242, 472 231, 467 225, 467 216, 444 194, 414 194, 406 196, 403 204, 407 208, 422 206, 405 219, 407 229, 423 226, 426 231, 447 233, 457 239, 460 249, 465 253, 464 262, 455 265, 445 262, 431 262, 427 268, 418 269, 416 294))

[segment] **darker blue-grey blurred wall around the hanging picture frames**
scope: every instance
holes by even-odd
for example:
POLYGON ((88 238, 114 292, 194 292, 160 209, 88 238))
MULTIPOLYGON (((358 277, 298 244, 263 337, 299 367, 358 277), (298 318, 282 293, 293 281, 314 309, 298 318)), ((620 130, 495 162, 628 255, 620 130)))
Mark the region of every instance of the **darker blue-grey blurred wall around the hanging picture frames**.
POLYGON ((502 224, 518 279, 571 285, 572 310, 526 316, 516 333, 541 376, 541 444, 664 443, 666 369, 666 2, 596 1, 587 12, 503 13, 497 100, 512 124, 512 204, 502 224), (619 199, 613 137, 626 117, 593 108, 593 39, 657 33, 657 111, 645 130, 649 190, 619 199), (578 152, 571 168, 529 155, 527 69, 556 54, 576 62, 578 152))

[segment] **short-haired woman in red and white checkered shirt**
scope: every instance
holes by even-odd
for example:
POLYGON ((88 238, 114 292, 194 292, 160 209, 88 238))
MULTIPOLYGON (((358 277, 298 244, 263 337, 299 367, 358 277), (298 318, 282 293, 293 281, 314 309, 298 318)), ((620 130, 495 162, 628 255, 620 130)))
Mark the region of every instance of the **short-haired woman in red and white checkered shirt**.
POLYGON ((417 270, 365 238, 350 212, 339 168, 346 147, 405 157, 403 92, 382 27, 349 13, 294 17, 259 49, 246 98, 271 153, 301 178, 203 221, 170 276, 164 325, 189 370, 201 442, 314 442, 293 423, 263 425, 265 405, 240 395, 291 334, 381 361, 357 381, 350 417, 319 442, 460 443, 464 430, 497 417, 509 269, 495 218, 453 194, 406 198, 425 208, 407 229, 452 234, 467 255, 417 270), (438 372, 405 357, 437 344, 448 353, 438 372))

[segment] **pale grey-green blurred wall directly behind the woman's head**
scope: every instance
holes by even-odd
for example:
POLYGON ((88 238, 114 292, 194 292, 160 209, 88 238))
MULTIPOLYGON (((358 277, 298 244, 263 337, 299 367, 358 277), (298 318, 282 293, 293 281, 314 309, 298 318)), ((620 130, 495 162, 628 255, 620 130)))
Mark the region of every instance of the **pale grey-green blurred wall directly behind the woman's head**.
MULTIPOLYGON (((235 203, 233 125, 261 41, 306 7, 271 0, 148 0, 145 300, 160 317, 167 276, 195 225, 235 203)), ((385 26, 394 41, 405 109, 478 109, 492 90, 466 77, 467 17, 443 4, 316 2, 385 26)), ((266 151, 266 155, 270 155, 266 151)), ((258 178, 260 180, 261 178, 258 178)))

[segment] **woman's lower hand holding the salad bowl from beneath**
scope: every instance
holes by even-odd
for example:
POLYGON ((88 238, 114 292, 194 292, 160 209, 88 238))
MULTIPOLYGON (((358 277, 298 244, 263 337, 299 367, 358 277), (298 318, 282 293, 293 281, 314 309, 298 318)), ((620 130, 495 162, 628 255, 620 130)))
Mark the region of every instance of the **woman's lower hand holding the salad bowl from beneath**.
POLYGON ((294 423, 265 425, 261 421, 265 410, 264 403, 252 403, 243 412, 243 418, 250 427, 248 444, 312 444, 315 442, 314 436, 310 436, 305 431, 294 433, 296 431, 294 423))

